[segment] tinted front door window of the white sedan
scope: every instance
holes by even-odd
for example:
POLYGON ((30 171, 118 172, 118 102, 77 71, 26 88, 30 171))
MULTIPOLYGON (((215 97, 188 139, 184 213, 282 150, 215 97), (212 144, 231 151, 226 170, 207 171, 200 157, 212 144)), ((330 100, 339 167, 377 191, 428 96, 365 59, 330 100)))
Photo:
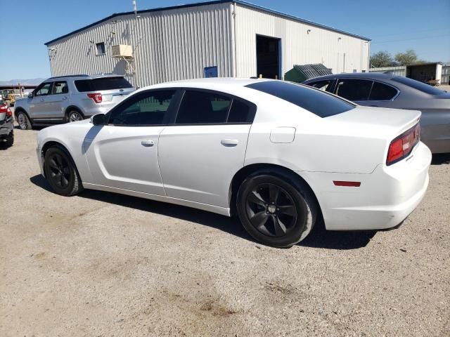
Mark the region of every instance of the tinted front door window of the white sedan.
POLYGON ((108 123, 116 126, 165 124, 175 92, 161 90, 139 93, 117 106, 111 113, 108 123))

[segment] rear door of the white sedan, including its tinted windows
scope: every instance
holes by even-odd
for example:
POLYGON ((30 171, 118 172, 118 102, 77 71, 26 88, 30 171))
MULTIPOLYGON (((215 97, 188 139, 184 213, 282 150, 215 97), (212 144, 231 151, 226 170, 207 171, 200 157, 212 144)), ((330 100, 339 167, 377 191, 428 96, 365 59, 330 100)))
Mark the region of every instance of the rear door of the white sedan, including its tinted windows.
POLYGON ((186 89, 174 125, 160 134, 167 196, 229 207, 229 186, 243 167, 255 112, 255 105, 239 98, 186 89))

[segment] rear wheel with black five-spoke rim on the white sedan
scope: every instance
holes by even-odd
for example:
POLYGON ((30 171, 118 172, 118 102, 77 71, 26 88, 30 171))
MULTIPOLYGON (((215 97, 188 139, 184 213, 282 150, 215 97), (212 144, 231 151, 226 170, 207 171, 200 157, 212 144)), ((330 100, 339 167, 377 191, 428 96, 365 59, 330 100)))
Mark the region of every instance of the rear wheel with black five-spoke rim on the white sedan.
POLYGON ((292 174, 253 173, 236 198, 240 222, 257 241, 286 248, 302 241, 314 227, 317 205, 309 187, 292 174))

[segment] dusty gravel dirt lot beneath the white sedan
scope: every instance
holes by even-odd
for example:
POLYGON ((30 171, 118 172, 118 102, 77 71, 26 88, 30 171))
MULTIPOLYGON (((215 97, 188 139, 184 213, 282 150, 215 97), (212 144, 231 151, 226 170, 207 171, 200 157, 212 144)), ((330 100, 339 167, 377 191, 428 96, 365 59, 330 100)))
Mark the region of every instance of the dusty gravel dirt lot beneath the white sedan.
POLYGON ((39 176, 0 150, 0 336, 450 336, 450 155, 398 230, 271 249, 236 220, 39 176))

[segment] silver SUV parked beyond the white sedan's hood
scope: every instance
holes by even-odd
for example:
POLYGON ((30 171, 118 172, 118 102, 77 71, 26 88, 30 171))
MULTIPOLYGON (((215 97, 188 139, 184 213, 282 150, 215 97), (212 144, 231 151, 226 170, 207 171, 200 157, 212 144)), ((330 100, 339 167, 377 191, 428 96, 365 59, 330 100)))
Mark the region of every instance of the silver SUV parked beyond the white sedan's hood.
POLYGON ((15 120, 21 129, 79 121, 111 107, 133 92, 119 75, 72 75, 51 77, 27 98, 15 101, 15 120))

